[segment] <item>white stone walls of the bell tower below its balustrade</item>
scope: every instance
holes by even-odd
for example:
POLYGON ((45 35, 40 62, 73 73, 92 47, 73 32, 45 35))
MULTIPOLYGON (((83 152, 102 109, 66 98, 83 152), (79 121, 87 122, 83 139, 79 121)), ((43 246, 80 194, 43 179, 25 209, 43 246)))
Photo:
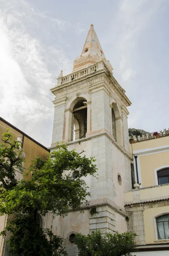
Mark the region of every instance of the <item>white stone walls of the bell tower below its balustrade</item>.
POLYGON ((49 221, 48 216, 46 219, 48 226, 52 225, 52 230, 65 239, 64 244, 71 256, 75 255, 76 249, 67 240, 70 232, 81 232, 87 235, 97 229, 101 229, 103 233, 127 230, 124 191, 132 188, 130 159, 129 155, 126 156, 126 151, 129 152, 128 111, 126 101, 120 96, 120 93, 123 94, 122 88, 114 78, 110 80, 110 77, 102 71, 92 73, 90 77, 88 76, 89 78, 86 77, 86 80, 84 77, 76 78, 65 87, 64 84, 59 84, 58 89, 54 89, 58 97, 54 104, 57 105, 57 99, 62 103, 63 99, 66 99, 66 113, 64 103, 55 107, 52 143, 63 140, 64 134, 65 138, 69 138, 66 134, 70 123, 67 117, 71 116, 69 108, 73 108, 72 102, 77 102, 78 97, 86 99, 89 102, 86 138, 68 142, 68 148, 69 150, 75 148, 77 152, 83 149, 85 150, 83 154, 87 157, 95 156, 98 169, 97 177, 84 178, 91 192, 91 198, 87 198, 89 204, 84 207, 84 213, 75 211, 69 212, 65 218, 57 216, 53 221, 52 219, 49 221), (117 143, 111 135, 112 104, 115 107, 117 143), (118 173, 122 177, 121 185, 117 181, 118 173), (90 211, 93 208, 96 208, 97 212, 91 214, 90 211))

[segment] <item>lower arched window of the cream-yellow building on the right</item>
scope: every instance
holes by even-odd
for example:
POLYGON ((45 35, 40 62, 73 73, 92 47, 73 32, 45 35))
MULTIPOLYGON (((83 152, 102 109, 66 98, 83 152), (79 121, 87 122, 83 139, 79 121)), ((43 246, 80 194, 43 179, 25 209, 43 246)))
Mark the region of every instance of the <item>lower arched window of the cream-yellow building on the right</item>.
POLYGON ((169 239, 169 214, 156 218, 158 239, 169 239))

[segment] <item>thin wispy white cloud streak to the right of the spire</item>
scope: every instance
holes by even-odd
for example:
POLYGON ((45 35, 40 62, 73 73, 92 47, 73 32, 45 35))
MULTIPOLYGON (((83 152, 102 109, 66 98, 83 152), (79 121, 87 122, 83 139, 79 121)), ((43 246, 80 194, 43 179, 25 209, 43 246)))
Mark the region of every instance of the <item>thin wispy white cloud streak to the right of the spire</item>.
MULTIPOLYGON (((117 75, 123 82, 128 81, 129 77, 134 77, 136 74, 135 67, 133 67, 133 50, 135 45, 139 44, 140 35, 147 29, 162 2, 163 0, 122 0, 119 2, 115 22, 118 24, 118 30, 116 27, 113 30, 116 31, 116 42, 119 42, 119 44, 115 44, 115 51, 121 53, 120 73, 117 75), (122 70, 123 72, 121 72, 122 70)), ((115 72, 116 70, 114 70, 115 72)))

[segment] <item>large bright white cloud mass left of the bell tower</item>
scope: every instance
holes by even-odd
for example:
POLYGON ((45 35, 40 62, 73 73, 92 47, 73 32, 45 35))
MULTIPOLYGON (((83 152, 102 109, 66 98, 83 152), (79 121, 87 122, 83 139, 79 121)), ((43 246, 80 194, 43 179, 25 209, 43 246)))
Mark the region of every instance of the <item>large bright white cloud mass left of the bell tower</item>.
MULTIPOLYGON (((63 49, 56 44, 44 44, 40 34, 34 32, 44 19, 49 26, 56 22, 62 30, 69 25, 35 11, 26 1, 11 1, 10 7, 9 2, 3 3, 0 12, 0 116, 49 146, 51 134, 44 139, 33 128, 38 122, 52 122, 53 96, 49 89, 56 84, 60 67, 71 72, 72 63, 63 49), (22 12, 15 7, 18 2, 22 12)), ((45 130, 41 128, 41 133, 45 134, 45 130)))

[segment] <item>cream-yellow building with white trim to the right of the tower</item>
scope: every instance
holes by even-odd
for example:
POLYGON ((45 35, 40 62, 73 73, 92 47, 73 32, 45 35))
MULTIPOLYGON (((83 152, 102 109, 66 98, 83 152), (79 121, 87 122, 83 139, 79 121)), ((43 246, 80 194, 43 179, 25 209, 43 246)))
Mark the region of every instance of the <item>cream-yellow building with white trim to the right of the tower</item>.
POLYGON ((133 177, 141 184, 124 193, 125 208, 128 230, 137 234, 138 256, 169 255, 169 131, 159 135, 134 137, 130 145, 133 177))

